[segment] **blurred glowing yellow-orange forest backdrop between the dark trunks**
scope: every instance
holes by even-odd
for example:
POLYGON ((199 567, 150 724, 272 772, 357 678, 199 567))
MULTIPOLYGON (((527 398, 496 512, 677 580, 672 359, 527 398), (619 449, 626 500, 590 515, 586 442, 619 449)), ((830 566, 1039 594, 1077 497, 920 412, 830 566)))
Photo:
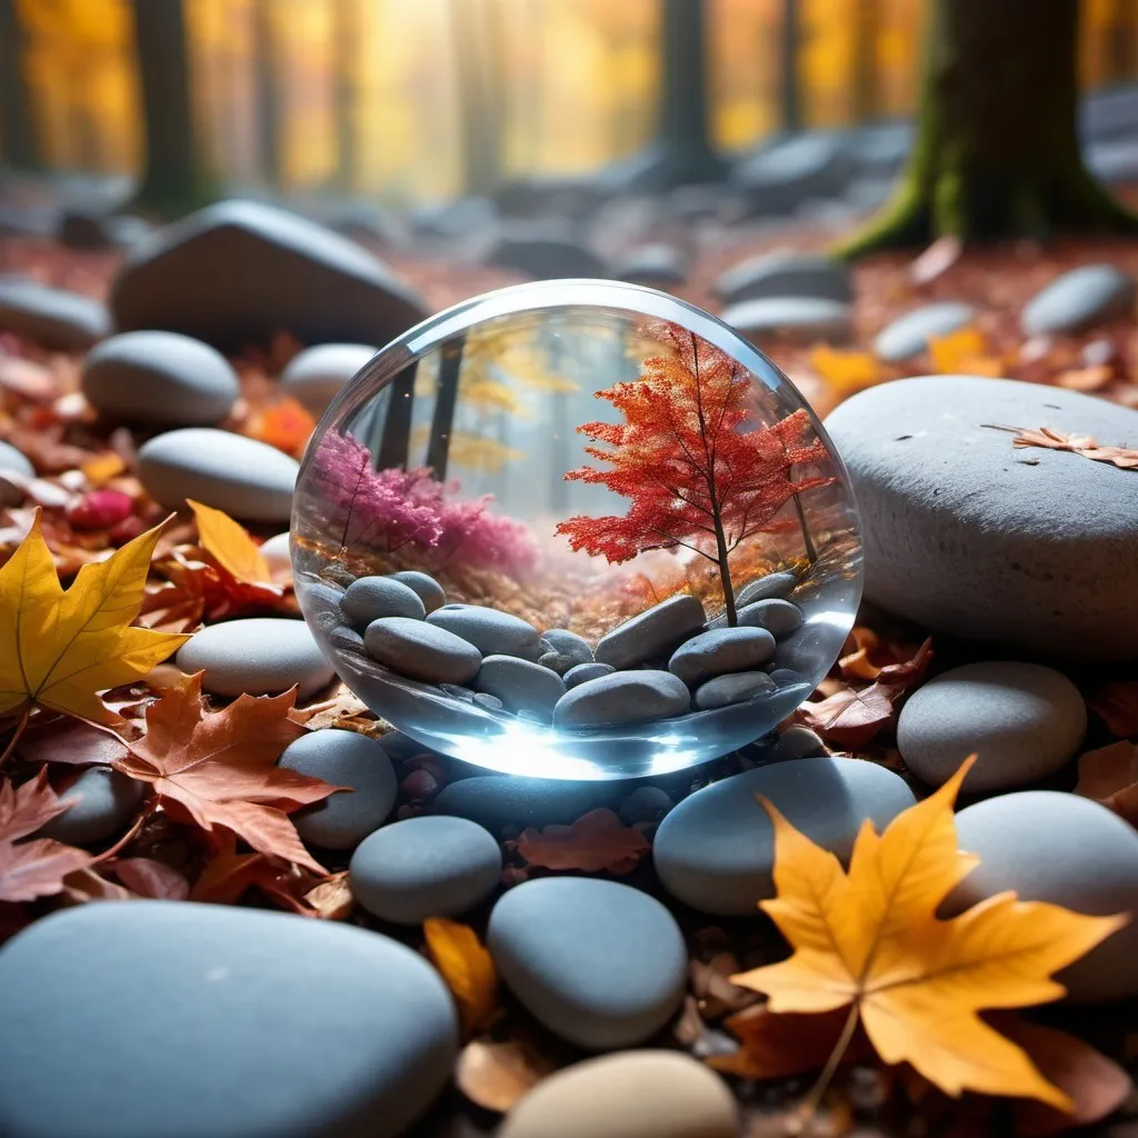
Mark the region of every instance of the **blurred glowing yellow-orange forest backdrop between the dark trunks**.
MULTIPOLYGON (((486 192, 487 178, 602 170, 642 151, 657 130, 659 0, 179 7, 195 146, 225 191, 414 206, 486 192), (490 139, 470 138, 472 86, 490 107, 490 139), (493 154, 470 160, 471 147, 487 146, 493 154)), ((61 173, 140 170, 131 8, 0 0, 3 160, 61 173)), ((706 10, 710 133, 725 154, 782 131, 915 108, 920 0, 708 0, 706 10)), ((1085 0, 1081 19, 1083 86, 1138 76, 1138 0, 1085 0)))

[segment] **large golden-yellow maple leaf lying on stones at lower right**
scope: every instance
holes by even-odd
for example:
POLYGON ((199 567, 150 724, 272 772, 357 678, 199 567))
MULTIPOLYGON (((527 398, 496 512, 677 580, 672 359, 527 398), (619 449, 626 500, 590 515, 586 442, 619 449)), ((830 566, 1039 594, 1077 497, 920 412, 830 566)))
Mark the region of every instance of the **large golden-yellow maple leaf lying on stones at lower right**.
POLYGON ((866 820, 848 873, 760 798, 774 823, 777 896, 759 904, 794 951, 732 981, 765 992, 775 1013, 852 1005, 846 1041, 860 1017, 884 1062, 910 1063, 949 1095, 968 1089, 1069 1110, 1067 1096, 976 1013, 1058 999, 1065 989, 1052 974, 1127 917, 1085 916, 1005 892, 951 921, 937 918, 979 863, 958 850, 953 819, 974 758, 880 836, 866 820))

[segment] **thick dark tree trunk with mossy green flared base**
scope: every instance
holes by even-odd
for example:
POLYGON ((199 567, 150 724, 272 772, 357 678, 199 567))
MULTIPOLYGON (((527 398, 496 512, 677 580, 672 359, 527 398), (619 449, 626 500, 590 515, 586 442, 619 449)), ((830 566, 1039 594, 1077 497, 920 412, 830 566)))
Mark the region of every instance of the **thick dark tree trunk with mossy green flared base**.
POLYGON ((839 250, 939 237, 1138 231, 1075 132, 1078 0, 932 0, 917 140, 892 199, 839 250))

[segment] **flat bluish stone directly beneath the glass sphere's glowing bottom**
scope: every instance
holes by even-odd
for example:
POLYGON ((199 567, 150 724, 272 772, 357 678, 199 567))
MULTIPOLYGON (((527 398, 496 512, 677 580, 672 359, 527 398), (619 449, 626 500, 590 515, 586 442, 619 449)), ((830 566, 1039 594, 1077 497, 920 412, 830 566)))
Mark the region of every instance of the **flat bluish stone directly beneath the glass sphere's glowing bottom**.
POLYGON ((575 783, 561 778, 479 775, 447 783, 434 801, 438 814, 470 818, 487 830, 503 826, 569 824, 605 806, 617 793, 611 784, 575 783))

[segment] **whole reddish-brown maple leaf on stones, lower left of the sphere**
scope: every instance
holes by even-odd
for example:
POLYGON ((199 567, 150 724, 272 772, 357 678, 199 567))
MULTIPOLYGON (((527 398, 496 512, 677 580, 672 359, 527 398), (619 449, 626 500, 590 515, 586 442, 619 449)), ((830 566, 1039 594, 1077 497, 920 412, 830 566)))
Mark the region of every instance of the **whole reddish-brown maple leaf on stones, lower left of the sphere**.
POLYGON ((147 708, 146 735, 127 742, 129 753, 114 766, 151 783, 174 816, 205 831, 221 826, 261 853, 324 876, 288 811, 347 787, 275 765, 305 733, 289 718, 295 702, 294 687, 275 696, 240 695, 204 714, 201 674, 184 676, 147 708))

